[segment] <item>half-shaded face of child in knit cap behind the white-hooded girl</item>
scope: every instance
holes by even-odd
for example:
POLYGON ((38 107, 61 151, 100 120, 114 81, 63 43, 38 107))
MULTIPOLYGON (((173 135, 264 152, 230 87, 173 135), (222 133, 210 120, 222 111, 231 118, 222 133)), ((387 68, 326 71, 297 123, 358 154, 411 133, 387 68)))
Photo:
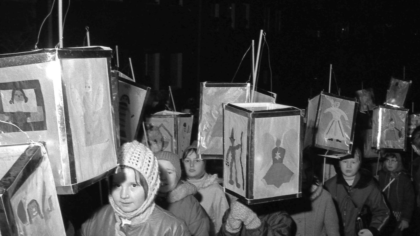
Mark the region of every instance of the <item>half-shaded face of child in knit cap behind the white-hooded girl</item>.
POLYGON ((176 171, 172 163, 168 160, 157 160, 159 163, 160 188, 159 192, 167 193, 175 189, 176 171))

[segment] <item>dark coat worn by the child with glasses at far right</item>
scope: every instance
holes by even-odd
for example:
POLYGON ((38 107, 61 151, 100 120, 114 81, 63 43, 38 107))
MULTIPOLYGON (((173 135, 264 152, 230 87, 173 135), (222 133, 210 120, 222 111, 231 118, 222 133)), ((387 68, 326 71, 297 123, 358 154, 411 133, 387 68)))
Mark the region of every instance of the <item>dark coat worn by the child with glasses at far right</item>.
MULTIPOLYGON (((383 190, 393 179, 391 172, 380 170, 379 187, 383 190)), ((388 201, 390 210, 396 215, 396 220, 406 220, 410 222, 414 210, 414 190, 411 179, 403 172, 397 173, 395 180, 383 191, 385 199, 388 201)))

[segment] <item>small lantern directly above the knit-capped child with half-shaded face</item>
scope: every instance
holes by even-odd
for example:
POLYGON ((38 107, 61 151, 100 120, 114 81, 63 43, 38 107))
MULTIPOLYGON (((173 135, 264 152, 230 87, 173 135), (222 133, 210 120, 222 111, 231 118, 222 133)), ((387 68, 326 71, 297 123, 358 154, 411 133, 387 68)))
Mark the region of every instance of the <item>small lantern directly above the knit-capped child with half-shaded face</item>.
MULTIPOLYGON (((192 120, 189 113, 164 110, 148 116, 145 123, 148 131, 153 130, 163 140, 161 151, 173 152, 181 158, 191 142, 192 120)), ((152 145, 152 140, 148 141, 152 145)))

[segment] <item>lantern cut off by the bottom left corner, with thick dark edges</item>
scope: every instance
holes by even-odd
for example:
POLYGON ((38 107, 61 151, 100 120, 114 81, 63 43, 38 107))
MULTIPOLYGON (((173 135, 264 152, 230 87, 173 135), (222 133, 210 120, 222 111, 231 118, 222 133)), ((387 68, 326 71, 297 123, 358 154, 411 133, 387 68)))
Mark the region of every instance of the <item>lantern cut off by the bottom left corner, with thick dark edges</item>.
POLYGON ((2 146, 0 159, 0 235, 65 236, 44 146, 2 146))

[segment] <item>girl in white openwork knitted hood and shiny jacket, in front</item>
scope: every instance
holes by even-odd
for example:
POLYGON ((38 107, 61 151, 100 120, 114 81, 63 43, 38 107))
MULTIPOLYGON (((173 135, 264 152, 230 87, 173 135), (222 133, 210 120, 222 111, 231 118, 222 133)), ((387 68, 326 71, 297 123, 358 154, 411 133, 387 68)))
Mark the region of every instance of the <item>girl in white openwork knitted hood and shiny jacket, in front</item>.
POLYGON ((190 235, 185 223, 153 202, 159 188, 153 153, 133 141, 118 149, 118 173, 112 176, 110 204, 81 227, 82 236, 190 235))

